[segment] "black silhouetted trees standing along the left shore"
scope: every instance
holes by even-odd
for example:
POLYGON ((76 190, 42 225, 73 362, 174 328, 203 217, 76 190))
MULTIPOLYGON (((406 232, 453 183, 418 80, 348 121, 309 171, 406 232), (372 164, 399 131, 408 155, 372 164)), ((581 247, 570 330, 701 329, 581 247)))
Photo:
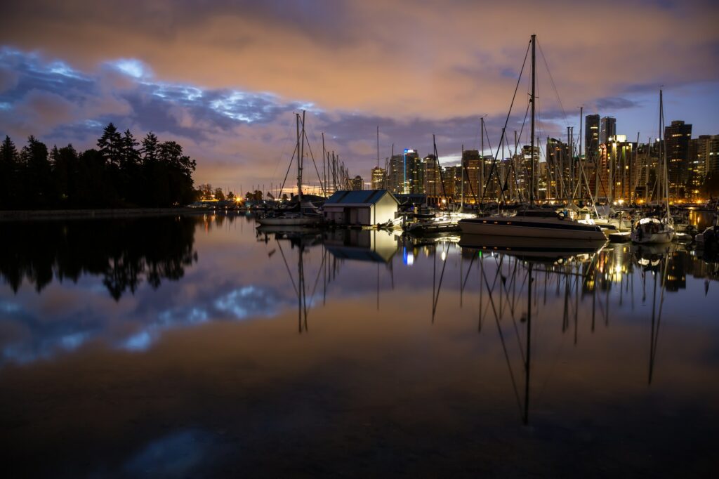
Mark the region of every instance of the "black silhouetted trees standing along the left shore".
POLYGON ((108 124, 97 148, 51 150, 34 136, 19 151, 0 144, 0 209, 164 207, 195 200, 196 162, 177 142, 148 133, 137 142, 108 124))

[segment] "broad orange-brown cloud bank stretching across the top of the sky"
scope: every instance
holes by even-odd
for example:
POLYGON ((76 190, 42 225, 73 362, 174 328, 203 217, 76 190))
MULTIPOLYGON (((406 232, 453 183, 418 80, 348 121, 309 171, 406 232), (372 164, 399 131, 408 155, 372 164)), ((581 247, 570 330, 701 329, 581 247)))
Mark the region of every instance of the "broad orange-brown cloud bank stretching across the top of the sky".
MULTIPOLYGON (((638 81, 669 85, 716 78, 719 66, 706 61, 719 42, 708 14, 717 12, 715 4, 648 9, 638 1, 615 3, 605 5, 606 12, 620 12, 608 14, 608 35, 587 28, 595 6, 562 1, 549 8, 529 1, 347 1, 321 7, 291 1, 207 7, 188 1, 132 8, 29 1, 9 7, 9 28, 0 35, 11 45, 40 49, 85 69, 116 58, 133 76, 151 68, 160 81, 272 91, 321 109, 395 117, 505 109, 512 89, 508 74, 520 68, 533 31, 551 74, 569 87, 562 94, 572 104, 586 91, 613 96, 618 86, 638 81), (571 15, 561 29, 558 12, 571 15), (508 22, 512 29, 505 28, 508 22), (669 36, 670 31, 683 33, 669 36), (672 59, 672 68, 657 61, 663 57, 672 59)), ((544 68, 543 56, 539 65, 544 68)))

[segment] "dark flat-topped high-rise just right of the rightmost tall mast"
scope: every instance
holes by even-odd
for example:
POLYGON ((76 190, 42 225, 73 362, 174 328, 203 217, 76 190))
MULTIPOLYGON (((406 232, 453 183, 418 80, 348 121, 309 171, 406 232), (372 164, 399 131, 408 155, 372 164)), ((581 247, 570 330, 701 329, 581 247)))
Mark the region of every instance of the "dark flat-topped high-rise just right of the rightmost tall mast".
POLYGON ((669 179, 669 197, 684 199, 689 195, 690 165, 689 143, 692 137, 692 125, 675 120, 664 127, 664 145, 667 148, 667 178, 669 179))

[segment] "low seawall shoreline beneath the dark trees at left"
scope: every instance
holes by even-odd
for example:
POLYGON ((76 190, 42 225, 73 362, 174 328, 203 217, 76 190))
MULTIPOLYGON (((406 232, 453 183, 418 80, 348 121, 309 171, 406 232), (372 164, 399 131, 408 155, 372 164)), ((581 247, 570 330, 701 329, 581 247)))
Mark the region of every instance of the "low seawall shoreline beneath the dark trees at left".
POLYGON ((118 208, 118 209, 48 209, 0 211, 0 222, 45 219, 132 218, 134 216, 168 216, 171 214, 204 214, 213 209, 200 208, 118 208))

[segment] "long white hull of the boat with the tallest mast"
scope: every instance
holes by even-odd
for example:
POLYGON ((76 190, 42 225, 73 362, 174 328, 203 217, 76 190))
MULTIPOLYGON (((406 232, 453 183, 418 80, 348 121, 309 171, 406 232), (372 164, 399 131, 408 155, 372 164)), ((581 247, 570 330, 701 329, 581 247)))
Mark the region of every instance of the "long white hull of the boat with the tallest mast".
POLYGON ((577 224, 570 220, 565 222, 542 222, 538 219, 527 221, 516 216, 462 219, 459 227, 462 234, 480 234, 491 236, 517 236, 549 239, 585 239, 605 241, 604 232, 599 227, 588 224, 577 224))

